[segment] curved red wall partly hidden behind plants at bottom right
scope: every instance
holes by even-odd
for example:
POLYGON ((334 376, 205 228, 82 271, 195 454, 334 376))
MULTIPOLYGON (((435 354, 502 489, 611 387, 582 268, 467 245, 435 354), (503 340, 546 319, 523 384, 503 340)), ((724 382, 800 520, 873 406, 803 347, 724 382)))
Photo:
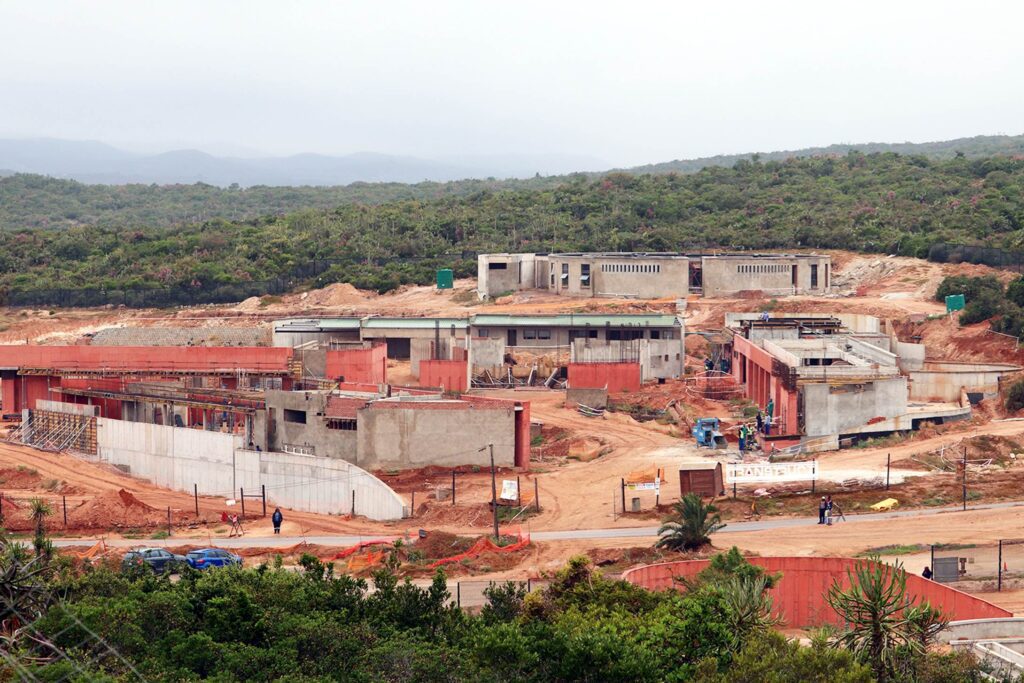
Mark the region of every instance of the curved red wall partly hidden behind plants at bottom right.
MULTIPOLYGON (((846 557, 749 557, 752 564, 782 578, 771 590, 775 614, 790 628, 811 628, 830 624, 842 626, 826 596, 833 584, 847 587, 848 571, 857 562, 846 557)), ((678 588, 676 578, 690 578, 701 571, 708 560, 663 562, 627 570, 623 579, 648 590, 678 588)), ((1001 607, 916 574, 906 575, 907 594, 914 603, 928 600, 950 620, 998 618, 1013 616, 1001 607)))

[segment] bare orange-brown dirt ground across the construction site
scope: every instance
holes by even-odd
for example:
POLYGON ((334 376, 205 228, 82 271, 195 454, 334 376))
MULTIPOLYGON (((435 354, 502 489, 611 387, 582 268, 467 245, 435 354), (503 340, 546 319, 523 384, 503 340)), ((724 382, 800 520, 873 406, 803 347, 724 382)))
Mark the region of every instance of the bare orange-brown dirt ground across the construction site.
MULTIPOLYGON (((823 297, 786 297, 770 299, 757 293, 731 299, 700 299, 691 297, 680 312, 687 331, 715 330, 722 326, 726 311, 809 311, 855 312, 879 315, 897 324, 899 336, 907 341, 923 341, 928 345, 931 358, 979 359, 1013 361, 1024 365, 1024 352, 1012 339, 987 332, 980 324, 959 328, 954 319, 940 316, 941 303, 933 300, 936 287, 950 274, 996 274, 1002 281, 1015 276, 986 266, 969 264, 936 264, 918 259, 887 256, 867 256, 847 252, 831 252, 835 271, 833 285, 836 293, 823 297), (933 317, 929 317, 933 316, 933 317)), ((625 312, 676 312, 673 299, 623 300, 573 299, 546 292, 523 292, 504 297, 497 302, 481 303, 474 293, 475 283, 458 281, 454 290, 436 291, 433 287, 404 287, 387 295, 359 292, 348 285, 332 285, 316 290, 284 297, 249 299, 228 306, 197 306, 175 310, 127 310, 104 308, 98 310, 13 310, 0 309, 0 343, 87 343, 84 335, 109 326, 260 326, 270 321, 291 316, 310 315, 466 315, 471 313, 554 313, 590 311, 607 313, 625 312)), ((688 340, 689 342, 689 340, 688 340)), ((687 344, 698 361, 700 344, 687 344), (692 346, 692 348, 691 348, 692 346)), ((389 364, 389 372, 397 383, 408 383, 408 364, 389 364)), ((698 452, 681 427, 660 425, 657 422, 637 422, 622 414, 609 414, 605 419, 594 420, 562 407, 563 394, 547 391, 492 391, 487 395, 512 396, 531 403, 534 419, 545 423, 550 436, 545 444, 534 449, 534 466, 530 472, 520 473, 524 490, 532 490, 537 482, 543 511, 539 515, 523 517, 516 522, 524 530, 550 530, 573 528, 601 528, 649 526, 656 522, 658 513, 622 516, 620 482, 631 473, 664 467, 669 473, 658 501, 665 506, 678 499, 678 485, 673 473, 678 464, 694 459, 705 459, 707 452, 698 452), (680 437, 682 436, 682 437, 680 437), (590 455, 583 460, 571 457, 572 449, 589 445, 590 455), (595 456, 596 457, 593 457, 595 456), (593 458, 593 459, 590 459, 593 458), (586 461, 586 462, 585 462, 586 461)), ((618 397, 623 402, 663 410, 684 392, 672 383, 660 387, 645 388, 641 395, 618 397)), ((732 408, 715 401, 684 400, 686 414, 714 415, 728 420, 732 408)), ((885 471, 887 457, 895 463, 894 471, 900 477, 918 478, 902 489, 905 501, 901 505, 923 504, 928 487, 934 482, 936 489, 952 488, 955 475, 926 471, 913 465, 914 458, 941 447, 955 449, 964 439, 980 435, 994 435, 1024 441, 1024 421, 995 422, 992 418, 1006 417, 1004 411, 984 403, 970 422, 950 425, 941 430, 927 430, 912 438, 870 447, 842 451, 820 457, 824 478, 844 478, 874 474, 885 471), (947 481, 947 479, 949 481, 947 481)), ((501 477, 514 473, 503 472, 501 477)), ((980 502, 1021 498, 1019 492, 1024 480, 1017 467, 978 473, 975 488, 983 495, 980 502)), ((382 524, 366 519, 348 519, 342 516, 314 515, 286 511, 284 532, 297 541, 315 533, 362 535, 415 535, 420 527, 444 529, 473 536, 485 532, 489 524, 487 501, 490 496, 489 474, 484 471, 465 471, 458 475, 458 505, 447 500, 437 500, 437 489, 451 485, 451 472, 423 472, 409 475, 395 482, 402 496, 412 499, 416 494, 417 517, 398 523, 382 524)), ((118 471, 94 463, 83 462, 68 456, 35 452, 28 449, 0 444, 0 490, 5 498, 20 503, 33 497, 42 497, 54 506, 69 503, 69 527, 62 525, 62 510, 57 507, 49 524, 60 533, 83 533, 92 537, 103 533, 140 535, 146 538, 166 525, 166 510, 172 511, 175 536, 194 541, 215 542, 226 536, 226 526, 220 524, 224 501, 200 499, 200 515, 195 514, 190 495, 170 492, 133 479, 118 471), (19 469, 20 468, 20 469, 19 469), (32 474, 31 471, 35 472, 32 474), (117 502, 124 502, 124 490, 144 508, 132 505, 119 509, 117 502), (103 505, 90 502, 101 500, 103 505), (110 504, 110 505, 108 505, 110 504), (75 511, 79 510, 78 513, 75 511), (89 512, 90 514, 86 514, 89 512), (95 513, 95 514, 91 514, 95 513), (90 516, 91 515, 91 516, 90 516), (118 517, 120 515, 120 517, 118 517), (144 523, 143 523, 144 522, 144 523)), ((874 497, 876 490, 866 493, 874 497)), ((883 492, 884 493, 884 492, 883 492)), ((652 492, 628 492, 627 498, 641 499, 641 506, 648 511, 654 508, 652 492)), ((855 497, 854 497, 855 498, 855 497)), ((864 502, 867 502, 865 498, 864 502)), ((804 496, 799 504, 780 515, 799 513, 813 499, 804 496)), ((851 499, 852 502, 852 499, 851 499)), ((742 506, 722 502, 731 520, 743 518, 742 506), (735 507, 736 509, 732 509, 735 507)), ((627 501, 629 505, 629 500, 627 501)), ((663 507, 664 509, 664 507, 663 507)), ((5 501, 4 515, 17 513, 5 501)), ((839 523, 833 527, 798 527, 771 531, 741 531, 716 537, 716 545, 737 545, 740 549, 760 554, 824 554, 856 555, 891 545, 930 543, 981 543, 995 542, 1000 538, 1020 536, 1015 529, 1024 522, 1024 509, 978 510, 966 513, 943 513, 937 516, 907 517, 886 521, 839 523)), ((259 537, 269 536, 270 524, 254 520, 248 527, 253 545, 259 537)), ((514 564, 493 567, 494 578, 541 575, 556 569, 564 560, 581 553, 600 556, 602 552, 620 553, 621 549, 640 546, 637 539, 606 539, 600 541, 565 541, 536 543, 514 564)), ((331 549, 325 551, 330 554, 331 549)), ((629 557, 616 561, 629 562, 629 557)), ((639 556, 638 556, 639 557, 639 556)), ((924 555, 908 553, 904 559, 907 567, 918 570, 924 555)), ((648 558, 649 559, 649 558, 648 558)), ((923 564, 922 564, 923 566, 923 564)), ((478 567, 479 568, 479 567, 478 567)), ((990 596, 987 596, 991 599, 990 596)), ((998 600, 1024 610, 1024 591, 1004 593, 998 600)), ((997 600, 997 601, 998 601, 997 600)))

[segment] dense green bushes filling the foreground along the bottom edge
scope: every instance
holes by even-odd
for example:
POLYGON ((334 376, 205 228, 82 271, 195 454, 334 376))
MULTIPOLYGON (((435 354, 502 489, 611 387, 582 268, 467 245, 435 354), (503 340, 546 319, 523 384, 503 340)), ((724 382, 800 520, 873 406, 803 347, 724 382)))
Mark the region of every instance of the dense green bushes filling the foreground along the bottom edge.
POLYGON ((18 676, 38 680, 980 680, 970 656, 930 650, 942 623, 934 611, 863 616, 903 597, 898 570, 881 587, 873 574, 863 584, 853 577, 837 600, 858 610, 866 601, 867 610, 850 631, 821 632, 808 647, 774 633, 766 589, 775 578, 735 550, 665 593, 573 559, 538 593, 493 586, 478 615, 450 604, 440 572, 419 588, 385 566, 368 593, 366 582, 312 556, 301 564, 186 570, 172 583, 134 567, 72 568, 4 541, 0 617, 15 627, 3 633, 5 656, 18 676), (881 639, 870 635, 879 631, 881 639))

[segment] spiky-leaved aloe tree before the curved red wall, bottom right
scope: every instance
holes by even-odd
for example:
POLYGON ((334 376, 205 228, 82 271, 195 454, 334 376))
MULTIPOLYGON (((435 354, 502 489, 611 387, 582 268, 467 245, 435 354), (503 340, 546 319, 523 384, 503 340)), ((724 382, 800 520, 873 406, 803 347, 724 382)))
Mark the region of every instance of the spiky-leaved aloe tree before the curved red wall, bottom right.
MULTIPOLYGON (((906 593, 906 572, 878 558, 847 570, 850 587, 834 582, 828 604, 847 625, 836 642, 865 660, 880 683, 893 680, 905 659, 925 651, 931 626, 939 618, 929 606, 913 610, 906 593)), ((934 635, 932 633, 931 635, 934 635)))

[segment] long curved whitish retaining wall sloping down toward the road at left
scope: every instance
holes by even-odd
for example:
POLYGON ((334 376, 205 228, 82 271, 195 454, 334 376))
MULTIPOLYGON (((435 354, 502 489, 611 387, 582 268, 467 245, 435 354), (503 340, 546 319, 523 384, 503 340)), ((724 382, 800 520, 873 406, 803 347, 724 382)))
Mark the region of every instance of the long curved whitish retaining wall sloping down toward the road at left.
MULTIPOLYGON (((168 488, 236 498, 239 489, 294 510, 355 513, 400 519, 404 502, 386 483, 351 463, 332 458, 249 451, 233 434, 99 418, 100 460, 168 488)), ((247 494, 248 495, 248 494, 247 494)))

